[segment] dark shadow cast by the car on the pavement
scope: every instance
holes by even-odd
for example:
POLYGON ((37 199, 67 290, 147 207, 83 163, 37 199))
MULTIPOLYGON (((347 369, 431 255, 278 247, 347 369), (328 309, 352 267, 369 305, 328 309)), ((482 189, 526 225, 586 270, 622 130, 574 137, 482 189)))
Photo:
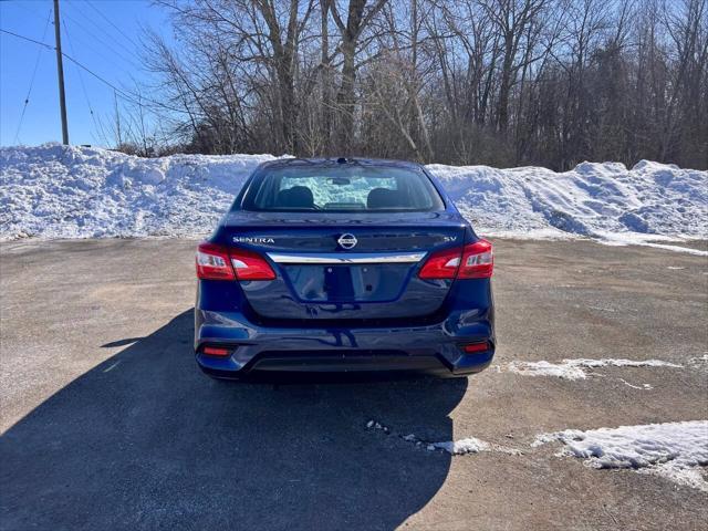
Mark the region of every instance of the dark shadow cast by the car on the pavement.
POLYGON ((392 529, 445 481, 449 456, 365 425, 449 440, 466 379, 220 383, 191 334, 187 311, 8 430, 3 529, 392 529))

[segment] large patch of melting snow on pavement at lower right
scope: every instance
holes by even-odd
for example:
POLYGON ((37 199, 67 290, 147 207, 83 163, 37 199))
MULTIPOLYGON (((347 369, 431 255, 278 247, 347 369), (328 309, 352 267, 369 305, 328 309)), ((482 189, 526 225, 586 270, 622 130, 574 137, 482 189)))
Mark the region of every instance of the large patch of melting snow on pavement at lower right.
POLYGON ((537 437, 533 446, 552 440, 565 445, 564 455, 587 459, 595 468, 632 468, 708 491, 708 421, 620 426, 582 431, 566 429, 537 437))

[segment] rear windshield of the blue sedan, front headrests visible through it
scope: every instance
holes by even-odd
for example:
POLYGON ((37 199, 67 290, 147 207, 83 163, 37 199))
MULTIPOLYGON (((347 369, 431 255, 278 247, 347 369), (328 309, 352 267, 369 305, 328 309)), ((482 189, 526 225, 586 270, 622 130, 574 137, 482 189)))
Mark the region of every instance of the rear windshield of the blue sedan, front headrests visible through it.
POLYGON ((413 168, 337 165, 266 168, 246 192, 246 210, 429 211, 445 208, 413 168))

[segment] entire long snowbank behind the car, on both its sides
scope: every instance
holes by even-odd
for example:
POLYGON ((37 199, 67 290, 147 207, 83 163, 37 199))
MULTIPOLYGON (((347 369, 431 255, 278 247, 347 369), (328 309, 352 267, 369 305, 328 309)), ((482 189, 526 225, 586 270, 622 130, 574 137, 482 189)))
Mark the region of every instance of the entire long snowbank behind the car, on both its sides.
MULTIPOLYGON (((208 233, 271 155, 138 158, 48 144, 0 148, 0 238, 208 233)), ((706 237, 708 173, 642 162, 428 168, 480 233, 706 237)), ((702 251, 699 251, 702 252, 702 251)))

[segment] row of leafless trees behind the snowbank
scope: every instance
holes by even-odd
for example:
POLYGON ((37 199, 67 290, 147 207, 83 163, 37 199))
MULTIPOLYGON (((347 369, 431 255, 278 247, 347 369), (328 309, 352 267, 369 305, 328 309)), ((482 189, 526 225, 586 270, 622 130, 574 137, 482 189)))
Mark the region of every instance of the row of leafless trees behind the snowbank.
POLYGON ((140 153, 708 166, 708 0, 156 1, 140 153))

